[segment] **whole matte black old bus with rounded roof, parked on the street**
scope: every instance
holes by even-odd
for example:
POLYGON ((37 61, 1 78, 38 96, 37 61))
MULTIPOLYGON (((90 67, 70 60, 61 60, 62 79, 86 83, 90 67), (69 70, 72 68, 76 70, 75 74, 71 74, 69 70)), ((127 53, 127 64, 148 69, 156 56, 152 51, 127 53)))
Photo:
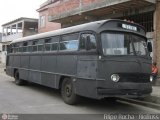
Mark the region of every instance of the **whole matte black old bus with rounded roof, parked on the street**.
POLYGON ((67 104, 78 96, 145 97, 152 92, 151 44, 142 26, 102 20, 14 40, 6 73, 17 85, 59 89, 67 104))

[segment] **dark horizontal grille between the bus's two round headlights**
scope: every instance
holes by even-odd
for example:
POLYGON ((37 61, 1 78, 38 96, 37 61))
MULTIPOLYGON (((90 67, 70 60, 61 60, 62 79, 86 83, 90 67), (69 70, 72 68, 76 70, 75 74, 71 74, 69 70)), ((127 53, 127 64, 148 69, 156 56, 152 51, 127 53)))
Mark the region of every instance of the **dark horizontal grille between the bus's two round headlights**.
POLYGON ((150 75, 149 74, 120 74, 119 82, 148 83, 150 82, 150 75))

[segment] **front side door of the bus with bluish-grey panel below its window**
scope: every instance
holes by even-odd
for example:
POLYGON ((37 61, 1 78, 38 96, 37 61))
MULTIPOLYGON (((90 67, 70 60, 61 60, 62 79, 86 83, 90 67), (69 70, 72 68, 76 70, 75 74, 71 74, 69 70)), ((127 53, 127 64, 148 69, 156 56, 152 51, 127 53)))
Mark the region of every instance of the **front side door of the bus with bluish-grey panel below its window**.
POLYGON ((97 69, 96 48, 96 36, 92 32, 81 33, 77 58, 76 92, 84 96, 89 95, 89 97, 92 97, 96 93, 94 92, 97 69))

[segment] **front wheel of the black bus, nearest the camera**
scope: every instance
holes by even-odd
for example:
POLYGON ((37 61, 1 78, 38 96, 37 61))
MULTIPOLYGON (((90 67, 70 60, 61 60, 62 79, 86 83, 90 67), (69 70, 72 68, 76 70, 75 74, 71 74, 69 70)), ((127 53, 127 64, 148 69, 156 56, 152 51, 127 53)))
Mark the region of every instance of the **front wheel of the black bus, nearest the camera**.
POLYGON ((74 93, 73 83, 70 78, 64 78, 61 86, 61 95, 66 104, 74 105, 78 101, 78 96, 74 93))

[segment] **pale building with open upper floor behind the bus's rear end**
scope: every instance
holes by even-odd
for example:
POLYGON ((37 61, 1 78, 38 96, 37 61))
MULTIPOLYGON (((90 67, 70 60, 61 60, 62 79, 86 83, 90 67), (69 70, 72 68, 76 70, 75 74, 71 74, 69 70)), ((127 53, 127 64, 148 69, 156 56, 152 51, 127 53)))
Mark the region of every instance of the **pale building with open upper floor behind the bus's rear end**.
POLYGON ((0 44, 0 63, 5 64, 8 45, 15 39, 37 34, 38 20, 21 17, 2 25, 2 27, 3 37, 2 44, 0 44))

